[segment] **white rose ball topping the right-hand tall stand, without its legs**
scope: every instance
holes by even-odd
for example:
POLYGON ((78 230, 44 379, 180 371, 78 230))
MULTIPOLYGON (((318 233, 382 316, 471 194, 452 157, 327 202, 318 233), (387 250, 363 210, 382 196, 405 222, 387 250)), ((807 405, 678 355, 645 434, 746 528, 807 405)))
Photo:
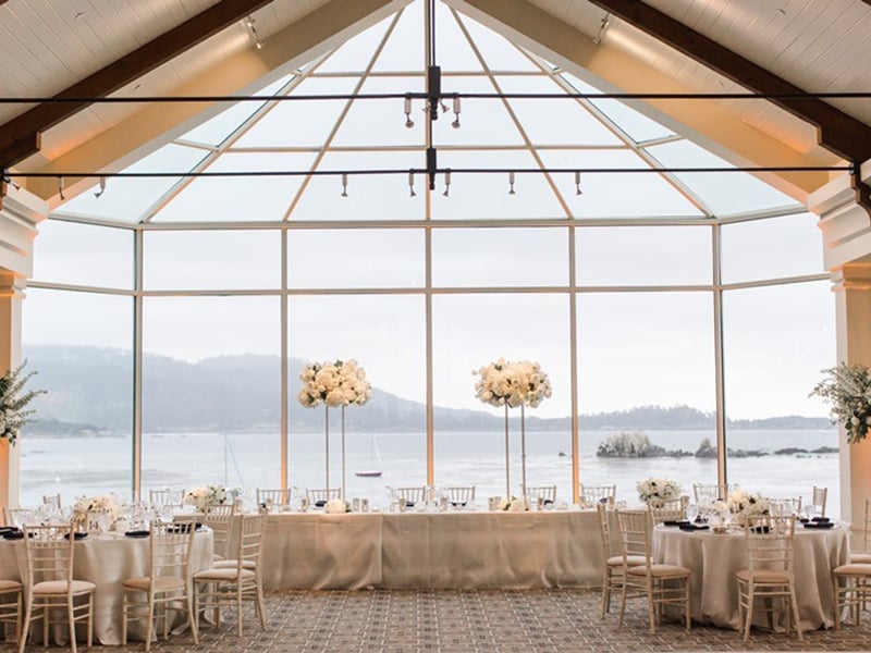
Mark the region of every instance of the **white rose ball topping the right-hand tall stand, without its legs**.
POLYGON ((551 382, 538 362, 500 358, 473 374, 480 375, 475 383, 477 397, 491 406, 535 408, 551 396, 551 382))

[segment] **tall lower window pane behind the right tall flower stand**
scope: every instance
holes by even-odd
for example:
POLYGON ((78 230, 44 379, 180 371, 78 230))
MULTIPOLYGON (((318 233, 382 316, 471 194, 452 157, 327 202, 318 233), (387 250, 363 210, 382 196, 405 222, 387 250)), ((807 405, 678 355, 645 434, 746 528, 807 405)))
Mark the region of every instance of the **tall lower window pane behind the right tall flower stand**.
MULTIPOLYGON (((504 496, 505 412, 482 404, 474 372, 505 358, 530 360, 548 373, 553 396, 526 409, 527 484, 557 485, 571 501, 572 448, 567 294, 469 294, 432 299, 436 481, 477 485, 480 496, 504 496)), ((519 495, 519 408, 510 410, 511 493, 519 495)))

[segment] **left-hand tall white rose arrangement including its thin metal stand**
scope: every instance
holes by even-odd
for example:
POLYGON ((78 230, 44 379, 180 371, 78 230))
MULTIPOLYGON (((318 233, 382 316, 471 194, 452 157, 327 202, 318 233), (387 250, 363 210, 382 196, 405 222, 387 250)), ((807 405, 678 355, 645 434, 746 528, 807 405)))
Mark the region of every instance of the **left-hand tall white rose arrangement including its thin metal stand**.
POLYGON ((299 374, 303 389, 297 395, 306 408, 324 406, 327 490, 330 489, 330 408, 342 408, 342 498, 345 494, 345 407, 363 406, 372 396, 372 386, 356 360, 310 362, 299 374))

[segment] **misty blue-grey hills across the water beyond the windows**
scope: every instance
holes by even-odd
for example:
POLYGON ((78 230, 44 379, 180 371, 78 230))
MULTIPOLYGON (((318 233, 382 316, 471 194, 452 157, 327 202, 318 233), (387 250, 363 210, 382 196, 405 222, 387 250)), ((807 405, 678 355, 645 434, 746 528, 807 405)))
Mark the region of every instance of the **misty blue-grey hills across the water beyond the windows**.
MULTIPOLYGON (((48 391, 34 401, 37 433, 128 431, 133 405, 130 352, 108 347, 25 345, 28 370, 37 371, 34 389, 48 391)), ((295 380, 304 361, 290 360, 295 380)), ((146 354, 143 359, 143 429, 155 431, 277 430, 280 421, 277 356, 221 356, 191 364, 146 354)), ((471 391, 469 391, 471 392, 471 391)), ((303 408, 292 393, 290 428, 317 431, 320 410, 303 408)), ((502 428, 502 418, 482 410, 434 408, 442 431, 502 428)), ((349 428, 367 431, 422 431, 426 406, 379 389, 365 409, 347 411, 349 428)), ((530 430, 568 430, 569 418, 527 418, 530 430)), ((581 415, 581 430, 711 429, 714 416, 688 406, 642 406, 616 412, 581 415)), ((741 429, 824 429, 825 418, 775 417, 732 422, 741 429)))

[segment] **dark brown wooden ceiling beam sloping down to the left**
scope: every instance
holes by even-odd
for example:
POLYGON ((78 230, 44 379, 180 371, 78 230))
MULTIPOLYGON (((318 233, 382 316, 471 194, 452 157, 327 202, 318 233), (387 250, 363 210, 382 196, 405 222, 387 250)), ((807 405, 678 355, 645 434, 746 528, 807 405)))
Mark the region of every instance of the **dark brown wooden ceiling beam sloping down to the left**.
MULTIPOLYGON (((0 4, 3 1, 0 0, 0 4)), ((103 98, 271 1, 221 0, 218 4, 73 84, 56 95, 53 99, 103 98)), ((87 101, 44 102, 0 126, 0 168, 11 168, 22 159, 35 155, 39 151, 38 135, 41 132, 91 103, 87 101), (36 138, 34 138, 35 135, 36 138)))

